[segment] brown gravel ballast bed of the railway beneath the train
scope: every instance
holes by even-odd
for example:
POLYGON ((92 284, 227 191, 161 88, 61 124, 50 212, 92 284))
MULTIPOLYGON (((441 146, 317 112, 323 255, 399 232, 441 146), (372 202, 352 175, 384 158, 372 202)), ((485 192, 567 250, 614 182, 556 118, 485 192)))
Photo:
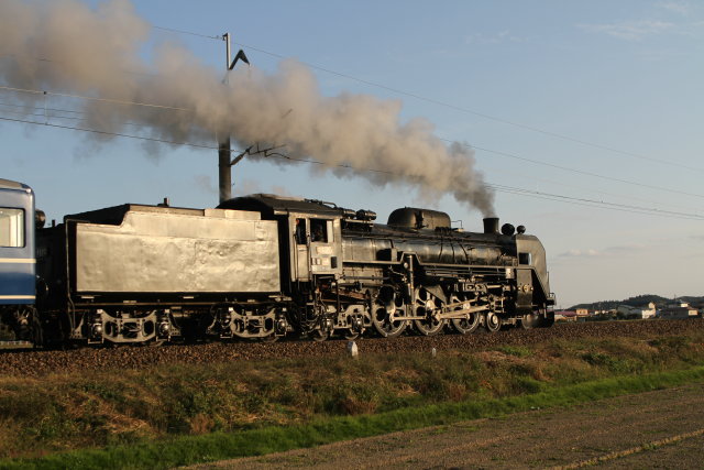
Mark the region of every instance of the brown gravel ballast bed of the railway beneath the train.
MULTIPOLYGON (((554 339, 582 337, 664 337, 702 331, 704 320, 629 320, 556 325, 532 330, 512 329, 494 335, 406 336, 394 339, 358 339, 360 354, 411 351, 481 350, 499 345, 534 345, 554 339)), ((168 363, 209 363, 233 360, 266 360, 301 357, 326 357, 345 353, 345 340, 231 342, 168 345, 163 347, 82 348, 55 350, 0 350, 0 374, 37 376, 48 373, 73 373, 96 370, 144 369, 168 363)))

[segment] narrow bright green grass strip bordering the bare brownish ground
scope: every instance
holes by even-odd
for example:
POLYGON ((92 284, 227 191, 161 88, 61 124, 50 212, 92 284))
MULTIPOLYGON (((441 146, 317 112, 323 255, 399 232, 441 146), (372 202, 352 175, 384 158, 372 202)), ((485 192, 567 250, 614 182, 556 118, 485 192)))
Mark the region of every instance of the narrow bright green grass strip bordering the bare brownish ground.
POLYGON ((392 412, 316 419, 298 426, 270 426, 240 433, 212 433, 178 437, 135 446, 78 450, 40 459, 2 461, 7 469, 91 469, 172 468, 235 457, 258 456, 343 439, 369 437, 426 426, 447 425, 465 419, 498 417, 535 408, 570 406, 593 400, 666 389, 703 381, 704 367, 651 373, 642 376, 612 378, 549 391, 481 402, 425 405, 392 412))

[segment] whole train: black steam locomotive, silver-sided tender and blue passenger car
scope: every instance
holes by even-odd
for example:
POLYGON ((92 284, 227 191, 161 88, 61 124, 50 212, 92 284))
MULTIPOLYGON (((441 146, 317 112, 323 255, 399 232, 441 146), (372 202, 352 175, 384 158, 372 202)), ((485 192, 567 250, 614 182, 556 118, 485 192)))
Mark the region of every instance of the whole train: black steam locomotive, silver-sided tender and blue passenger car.
POLYGON ((35 345, 471 334, 553 323, 540 241, 440 211, 376 214, 251 195, 216 209, 127 204, 43 228, 0 181, 0 318, 35 345))

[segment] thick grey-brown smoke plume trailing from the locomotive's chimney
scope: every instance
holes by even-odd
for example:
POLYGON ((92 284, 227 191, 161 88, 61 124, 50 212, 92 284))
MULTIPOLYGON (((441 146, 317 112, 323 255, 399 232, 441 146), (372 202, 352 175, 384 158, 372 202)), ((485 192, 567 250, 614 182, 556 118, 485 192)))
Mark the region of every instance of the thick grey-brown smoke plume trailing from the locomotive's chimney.
MULTIPOLYGON (((79 127, 134 133, 138 124, 169 141, 216 145, 216 136, 230 134, 243 147, 285 145, 280 152, 292 160, 284 162, 315 159, 338 176, 450 193, 492 215, 493 193, 474 170, 473 152, 446 145, 424 119, 402 123, 399 101, 322 96, 295 61, 282 62, 275 74, 238 68, 226 86, 221 70, 176 44, 157 46, 145 62, 150 33, 128 0, 97 9, 78 0, 2 0, 0 84, 100 98, 64 98, 79 103, 79 127)), ((44 99, 21 96, 28 106, 44 99)))

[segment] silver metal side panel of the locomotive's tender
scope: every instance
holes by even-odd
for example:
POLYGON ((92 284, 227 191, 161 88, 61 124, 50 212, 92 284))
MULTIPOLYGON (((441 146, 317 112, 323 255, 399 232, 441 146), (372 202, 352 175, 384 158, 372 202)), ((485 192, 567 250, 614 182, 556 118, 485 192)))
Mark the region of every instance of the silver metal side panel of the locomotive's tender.
POLYGON ((279 292, 278 233, 258 212, 129 211, 121 226, 78 223, 76 291, 279 292))

